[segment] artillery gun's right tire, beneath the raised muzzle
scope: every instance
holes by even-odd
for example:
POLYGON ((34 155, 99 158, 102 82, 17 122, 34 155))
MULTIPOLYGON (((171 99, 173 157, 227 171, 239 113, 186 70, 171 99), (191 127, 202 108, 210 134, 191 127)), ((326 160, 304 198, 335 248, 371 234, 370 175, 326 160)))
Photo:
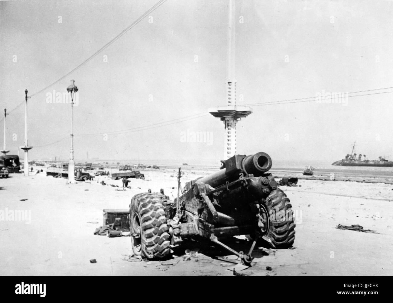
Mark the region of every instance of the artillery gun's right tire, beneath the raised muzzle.
POLYGON ((295 221, 292 205, 286 194, 280 190, 273 190, 263 203, 269 215, 269 226, 265 238, 272 248, 289 248, 295 241, 295 221), (279 215, 277 216, 277 209, 279 215), (284 213, 283 213, 284 212, 284 213), (281 214, 285 214, 285 218, 281 214), (284 219, 284 220, 283 220, 284 219))

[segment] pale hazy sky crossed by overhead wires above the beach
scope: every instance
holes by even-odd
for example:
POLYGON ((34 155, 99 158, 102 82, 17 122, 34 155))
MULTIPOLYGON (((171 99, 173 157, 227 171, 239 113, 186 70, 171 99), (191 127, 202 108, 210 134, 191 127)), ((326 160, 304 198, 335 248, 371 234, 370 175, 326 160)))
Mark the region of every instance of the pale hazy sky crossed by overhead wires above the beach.
MULTIPOLYGON (((34 94, 68 73, 156 2, 0 1, 0 107, 10 111, 24 100, 24 89, 34 94)), ((236 1, 237 104, 392 87, 392 5, 236 1)), ((66 92, 75 79, 76 161, 86 152, 115 160, 222 159, 224 124, 211 115, 110 132, 226 104, 227 14, 228 1, 168 0, 72 75, 34 95, 28 100, 29 145, 36 146, 30 157, 67 159, 70 139, 51 143, 69 136, 71 106, 48 103, 48 96, 66 92), (212 140, 182 142, 187 131, 207 132, 212 140)), ((393 159, 392 97, 349 97, 347 106, 315 100, 252 106, 238 123, 238 153, 330 163, 356 141, 356 152, 369 159, 393 159)), ((13 154, 24 145, 24 106, 7 116, 6 138, 13 154)))

